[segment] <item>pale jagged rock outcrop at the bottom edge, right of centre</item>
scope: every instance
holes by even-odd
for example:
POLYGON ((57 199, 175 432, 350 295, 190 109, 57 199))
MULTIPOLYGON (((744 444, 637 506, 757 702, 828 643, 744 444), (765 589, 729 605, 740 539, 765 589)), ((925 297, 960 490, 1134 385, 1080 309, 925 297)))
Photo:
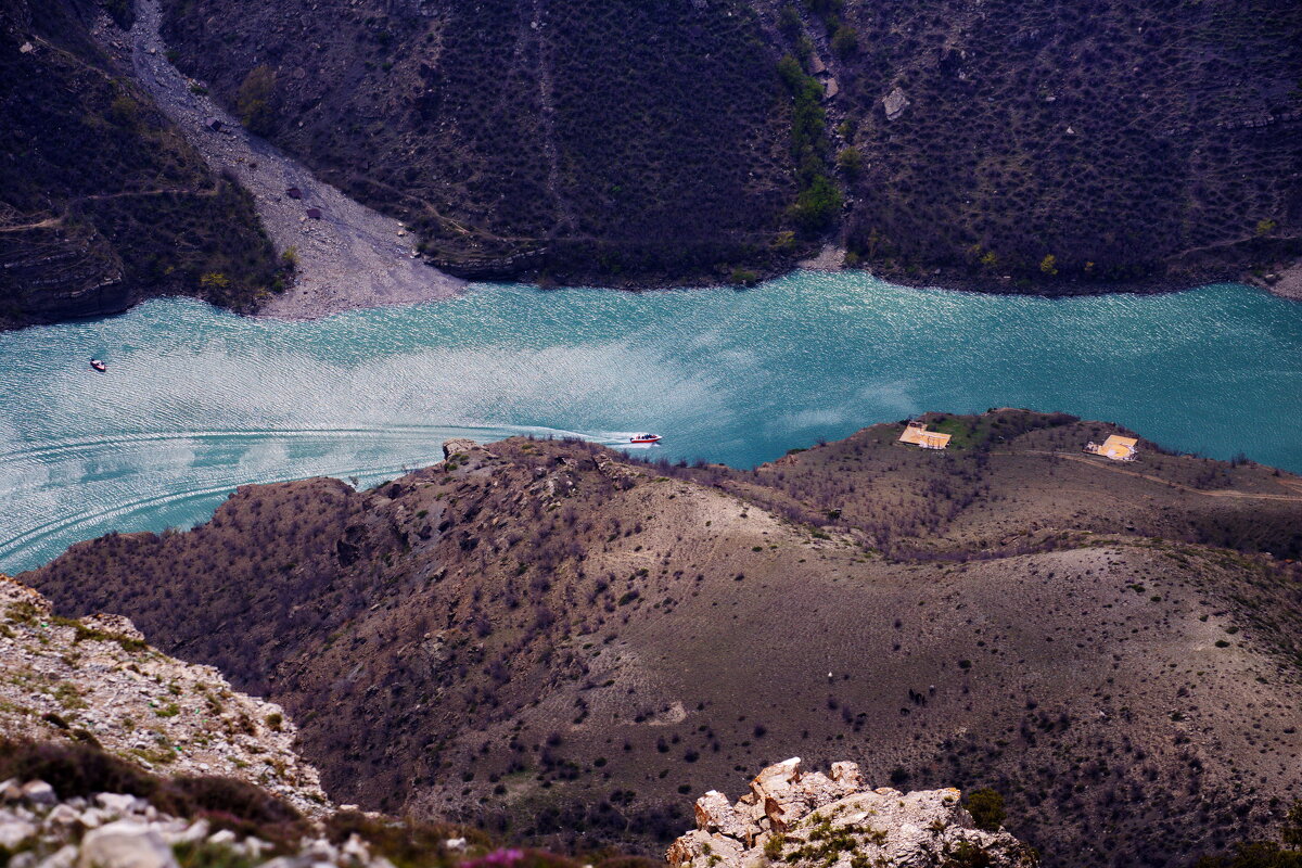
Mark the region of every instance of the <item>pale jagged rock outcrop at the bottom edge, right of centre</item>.
POLYGON ((773 861, 905 868, 976 854, 986 858, 979 864, 992 868, 1038 864, 1035 851, 1003 829, 975 828, 960 796, 953 789, 870 789, 854 763, 833 763, 828 776, 806 773, 799 757, 792 757, 760 772, 736 804, 715 790, 697 799, 697 829, 674 841, 665 856, 674 868, 773 861))

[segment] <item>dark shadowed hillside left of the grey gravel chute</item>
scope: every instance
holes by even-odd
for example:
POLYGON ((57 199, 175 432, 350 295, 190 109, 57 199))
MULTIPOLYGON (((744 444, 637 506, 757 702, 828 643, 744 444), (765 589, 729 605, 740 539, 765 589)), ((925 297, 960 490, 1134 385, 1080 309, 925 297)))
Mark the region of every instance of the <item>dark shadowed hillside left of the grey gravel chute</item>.
POLYGON ((283 277, 251 200, 95 48, 95 13, 0 7, 0 328, 169 293, 253 308, 283 277))

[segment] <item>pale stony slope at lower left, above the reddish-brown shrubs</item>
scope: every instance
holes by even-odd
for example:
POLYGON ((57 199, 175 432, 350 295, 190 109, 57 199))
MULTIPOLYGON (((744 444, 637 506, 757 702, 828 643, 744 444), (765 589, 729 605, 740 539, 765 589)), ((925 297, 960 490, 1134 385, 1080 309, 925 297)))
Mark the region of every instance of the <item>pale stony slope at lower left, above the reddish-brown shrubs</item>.
POLYGON ((159 774, 247 781, 306 815, 329 807, 279 705, 155 651, 121 616, 60 618, 0 575, 0 735, 98 744, 159 774))

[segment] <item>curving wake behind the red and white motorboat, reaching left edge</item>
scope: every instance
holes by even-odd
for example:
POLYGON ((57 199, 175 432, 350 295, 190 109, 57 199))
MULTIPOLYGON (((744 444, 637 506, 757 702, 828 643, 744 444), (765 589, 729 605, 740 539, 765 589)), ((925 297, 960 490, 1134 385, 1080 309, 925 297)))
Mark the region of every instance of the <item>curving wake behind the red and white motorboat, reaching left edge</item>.
POLYGON ((111 531, 207 521, 240 485, 333 476, 370 487, 441 459, 445 440, 510 436, 626 445, 622 432, 546 426, 353 426, 158 431, 0 448, 0 570, 16 573, 111 531))

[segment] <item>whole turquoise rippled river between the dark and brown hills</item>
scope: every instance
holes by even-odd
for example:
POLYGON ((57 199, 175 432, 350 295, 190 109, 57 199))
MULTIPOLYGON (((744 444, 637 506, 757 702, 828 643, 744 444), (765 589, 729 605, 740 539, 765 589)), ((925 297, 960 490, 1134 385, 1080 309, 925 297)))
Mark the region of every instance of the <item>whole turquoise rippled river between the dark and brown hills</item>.
POLYGON ((644 454, 753 466, 992 406, 1302 471, 1302 305, 1237 285, 1048 301, 809 272, 747 292, 479 286, 315 323, 156 301, 0 334, 0 570, 191 526, 241 483, 375 483, 449 436, 646 429, 665 442, 644 454))

